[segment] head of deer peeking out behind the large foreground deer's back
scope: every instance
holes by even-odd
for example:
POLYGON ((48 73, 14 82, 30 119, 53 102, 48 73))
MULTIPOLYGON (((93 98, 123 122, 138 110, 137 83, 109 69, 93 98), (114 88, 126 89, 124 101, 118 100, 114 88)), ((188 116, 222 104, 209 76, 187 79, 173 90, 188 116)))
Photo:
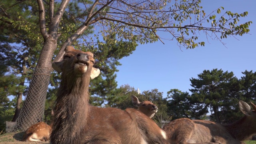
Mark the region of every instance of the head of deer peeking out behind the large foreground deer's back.
POLYGON ((153 118, 158 109, 155 104, 153 104, 150 100, 140 102, 136 96, 131 96, 131 98, 132 104, 138 107, 138 110, 140 110, 143 114, 146 114, 146 116, 148 116, 149 118, 153 118))

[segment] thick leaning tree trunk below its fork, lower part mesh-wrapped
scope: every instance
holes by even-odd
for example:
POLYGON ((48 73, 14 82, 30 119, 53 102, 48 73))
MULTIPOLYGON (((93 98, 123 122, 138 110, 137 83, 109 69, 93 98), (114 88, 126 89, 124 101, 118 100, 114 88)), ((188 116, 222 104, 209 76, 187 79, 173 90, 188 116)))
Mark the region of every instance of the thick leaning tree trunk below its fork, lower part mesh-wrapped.
POLYGON ((28 95, 16 122, 18 130, 26 130, 32 124, 43 119, 46 94, 52 71, 52 56, 56 48, 56 40, 49 36, 44 42, 29 85, 28 95))

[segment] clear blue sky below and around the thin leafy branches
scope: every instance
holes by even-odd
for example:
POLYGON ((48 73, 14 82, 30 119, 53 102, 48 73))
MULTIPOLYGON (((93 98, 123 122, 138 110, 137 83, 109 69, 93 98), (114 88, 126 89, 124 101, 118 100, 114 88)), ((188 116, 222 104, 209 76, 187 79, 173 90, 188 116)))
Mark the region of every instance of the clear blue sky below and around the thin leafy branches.
POLYGON ((119 72, 116 73, 118 87, 129 84, 139 88, 141 93, 157 88, 166 97, 167 92, 174 88, 189 92, 192 88, 190 78, 198 78, 203 70, 218 68, 234 72, 237 78, 241 78, 245 70, 255 72, 256 0, 202 0, 201 6, 206 15, 220 6, 224 7, 222 12, 240 14, 247 11, 248 16, 240 19, 252 21, 250 34, 224 39, 226 47, 217 40, 207 42, 202 32, 200 38, 206 42, 205 46, 195 49, 180 49, 174 40, 165 40, 165 44, 158 41, 139 45, 133 54, 120 60, 122 66, 118 66, 119 72))

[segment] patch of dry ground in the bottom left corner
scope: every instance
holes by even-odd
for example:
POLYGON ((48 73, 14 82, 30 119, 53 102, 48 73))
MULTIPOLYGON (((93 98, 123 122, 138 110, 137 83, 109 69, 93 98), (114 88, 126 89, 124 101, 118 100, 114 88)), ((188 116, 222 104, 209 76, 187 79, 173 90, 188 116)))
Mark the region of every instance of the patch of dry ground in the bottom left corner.
POLYGON ((0 144, 50 144, 50 142, 22 142, 24 132, 20 133, 5 133, 0 135, 0 144))

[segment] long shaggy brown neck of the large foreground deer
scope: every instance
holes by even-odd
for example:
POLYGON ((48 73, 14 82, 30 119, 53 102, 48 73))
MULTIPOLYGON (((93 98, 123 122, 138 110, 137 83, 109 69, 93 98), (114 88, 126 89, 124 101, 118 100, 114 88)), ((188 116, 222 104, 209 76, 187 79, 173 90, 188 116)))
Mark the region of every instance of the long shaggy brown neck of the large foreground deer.
MULTIPOLYGON (((64 81, 64 80, 62 80, 64 81)), ((74 83, 60 84, 54 110, 53 134, 61 143, 80 143, 89 112, 89 80, 74 78, 74 83)), ((54 137, 54 136, 52 136, 54 137)), ((58 142, 56 142, 58 143, 58 142)), ((56 144, 52 142, 52 144, 56 144)))

